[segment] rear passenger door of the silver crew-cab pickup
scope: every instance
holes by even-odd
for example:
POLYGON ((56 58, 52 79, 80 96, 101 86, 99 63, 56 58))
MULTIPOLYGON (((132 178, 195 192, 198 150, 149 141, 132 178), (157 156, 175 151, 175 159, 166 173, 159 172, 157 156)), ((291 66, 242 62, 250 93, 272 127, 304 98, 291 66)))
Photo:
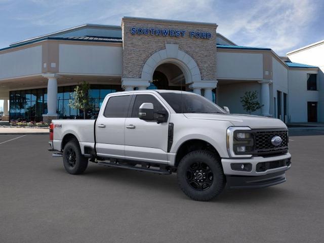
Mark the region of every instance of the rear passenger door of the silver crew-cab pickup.
POLYGON ((96 149, 98 156, 124 158, 125 119, 130 95, 109 97, 96 122, 96 149))

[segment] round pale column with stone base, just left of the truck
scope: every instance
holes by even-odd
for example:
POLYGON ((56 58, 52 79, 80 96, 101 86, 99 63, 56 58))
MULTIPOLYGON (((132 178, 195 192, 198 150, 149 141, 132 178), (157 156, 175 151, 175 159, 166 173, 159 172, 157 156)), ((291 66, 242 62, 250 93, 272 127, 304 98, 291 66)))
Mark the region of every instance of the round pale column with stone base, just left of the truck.
POLYGON ((47 114, 43 114, 43 120, 51 123, 52 119, 57 119, 57 78, 59 77, 55 73, 43 74, 48 78, 47 83, 47 114))

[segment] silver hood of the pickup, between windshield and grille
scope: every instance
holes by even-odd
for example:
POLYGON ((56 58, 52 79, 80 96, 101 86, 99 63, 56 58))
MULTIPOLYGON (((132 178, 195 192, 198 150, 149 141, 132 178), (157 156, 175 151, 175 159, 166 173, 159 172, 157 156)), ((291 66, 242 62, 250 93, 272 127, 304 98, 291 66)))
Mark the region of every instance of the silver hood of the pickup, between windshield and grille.
POLYGON ((185 113, 184 115, 189 119, 229 121, 236 127, 250 127, 252 129, 286 128, 286 124, 281 120, 266 116, 218 113, 185 113))

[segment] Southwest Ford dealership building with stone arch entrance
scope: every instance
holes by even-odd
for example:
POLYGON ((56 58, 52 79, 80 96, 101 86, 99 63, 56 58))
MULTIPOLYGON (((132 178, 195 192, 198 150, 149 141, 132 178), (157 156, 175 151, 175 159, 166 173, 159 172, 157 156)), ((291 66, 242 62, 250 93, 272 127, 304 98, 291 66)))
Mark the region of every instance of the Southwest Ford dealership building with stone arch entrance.
POLYGON ((3 119, 83 117, 68 104, 86 81, 88 118, 111 92, 166 89, 203 95, 231 113, 246 113, 240 97, 257 91, 263 106, 253 114, 324 122, 323 54, 324 41, 286 57, 238 46, 215 23, 124 17, 121 26, 85 24, 0 49, 3 119))

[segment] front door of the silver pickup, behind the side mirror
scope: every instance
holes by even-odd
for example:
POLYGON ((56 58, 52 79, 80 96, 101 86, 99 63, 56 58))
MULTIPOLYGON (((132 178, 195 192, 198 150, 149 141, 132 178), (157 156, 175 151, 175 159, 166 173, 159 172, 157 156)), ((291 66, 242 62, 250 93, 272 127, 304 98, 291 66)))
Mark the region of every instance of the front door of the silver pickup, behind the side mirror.
POLYGON ((152 103, 154 112, 167 110, 153 94, 136 95, 132 113, 125 121, 125 158, 167 164, 168 123, 157 124, 156 121, 138 118, 139 107, 143 103, 152 103))

